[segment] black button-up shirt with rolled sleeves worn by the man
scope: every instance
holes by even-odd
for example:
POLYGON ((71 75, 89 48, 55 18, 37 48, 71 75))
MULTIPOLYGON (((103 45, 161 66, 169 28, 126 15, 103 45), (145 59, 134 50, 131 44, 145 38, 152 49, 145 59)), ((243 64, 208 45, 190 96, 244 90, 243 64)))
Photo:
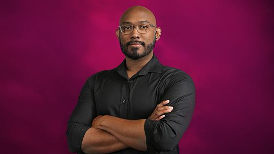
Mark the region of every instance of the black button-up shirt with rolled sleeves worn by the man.
POLYGON ((195 86, 182 70, 152 59, 128 79, 124 61, 111 70, 89 77, 78 98, 67 125, 71 152, 84 154, 81 144, 85 132, 97 115, 123 119, 147 119, 156 105, 169 99, 173 110, 160 121, 146 120, 144 129, 147 152, 126 148, 111 154, 179 154, 178 143, 186 131, 195 106, 195 86))

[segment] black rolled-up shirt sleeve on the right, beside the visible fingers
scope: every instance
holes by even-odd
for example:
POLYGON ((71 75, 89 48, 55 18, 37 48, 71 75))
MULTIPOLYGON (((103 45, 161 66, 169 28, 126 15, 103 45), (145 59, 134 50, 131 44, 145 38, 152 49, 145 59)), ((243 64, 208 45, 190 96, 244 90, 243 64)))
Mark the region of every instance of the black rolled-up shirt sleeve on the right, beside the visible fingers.
MULTIPOLYGON (((146 120, 144 129, 148 152, 172 151, 191 121, 195 106, 195 86, 192 78, 179 72, 170 79, 161 101, 169 99, 173 110, 159 121, 146 120)), ((160 103, 159 102, 159 103, 160 103)))

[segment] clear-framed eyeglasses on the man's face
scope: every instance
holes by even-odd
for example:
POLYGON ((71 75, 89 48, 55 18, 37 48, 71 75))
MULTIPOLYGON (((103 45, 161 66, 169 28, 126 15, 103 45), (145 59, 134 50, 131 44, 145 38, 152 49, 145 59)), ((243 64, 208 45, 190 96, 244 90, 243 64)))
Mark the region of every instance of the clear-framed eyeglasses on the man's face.
POLYGON ((139 24, 139 25, 121 25, 119 26, 120 31, 123 34, 131 34, 133 32, 134 27, 136 27, 137 31, 141 34, 148 33, 150 30, 150 27, 155 27, 152 24, 139 24))

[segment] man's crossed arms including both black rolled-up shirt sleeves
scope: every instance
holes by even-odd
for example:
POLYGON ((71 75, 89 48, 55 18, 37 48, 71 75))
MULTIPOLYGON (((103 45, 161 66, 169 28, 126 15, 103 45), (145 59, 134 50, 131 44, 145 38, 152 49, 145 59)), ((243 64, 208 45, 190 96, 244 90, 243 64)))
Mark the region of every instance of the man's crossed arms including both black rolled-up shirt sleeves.
POLYGON ((195 102, 195 88, 190 77, 184 76, 170 82, 162 96, 161 100, 171 100, 169 105, 174 108, 172 112, 167 110, 169 106, 164 106, 168 102, 161 102, 148 119, 139 120, 109 115, 95 117, 96 114, 86 112, 94 109, 89 103, 94 101, 93 84, 91 76, 91 80, 84 84, 68 121, 66 135, 71 152, 102 154, 129 147, 149 152, 170 151, 178 144, 190 123, 195 102), (166 117, 162 116, 164 113, 166 117), (79 120, 78 116, 85 118, 79 120))

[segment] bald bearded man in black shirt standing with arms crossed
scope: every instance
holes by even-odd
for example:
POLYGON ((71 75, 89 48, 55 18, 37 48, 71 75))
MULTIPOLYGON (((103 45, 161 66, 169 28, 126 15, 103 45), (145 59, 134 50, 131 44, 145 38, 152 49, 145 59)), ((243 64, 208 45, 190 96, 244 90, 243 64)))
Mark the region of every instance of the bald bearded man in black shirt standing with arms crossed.
POLYGON ((150 10, 133 6, 119 25, 116 35, 125 59, 86 80, 68 120, 69 149, 78 154, 179 154, 195 106, 194 83, 153 54, 161 28, 150 10))

